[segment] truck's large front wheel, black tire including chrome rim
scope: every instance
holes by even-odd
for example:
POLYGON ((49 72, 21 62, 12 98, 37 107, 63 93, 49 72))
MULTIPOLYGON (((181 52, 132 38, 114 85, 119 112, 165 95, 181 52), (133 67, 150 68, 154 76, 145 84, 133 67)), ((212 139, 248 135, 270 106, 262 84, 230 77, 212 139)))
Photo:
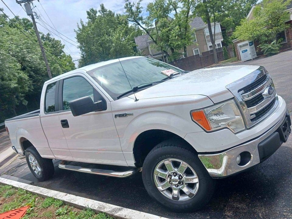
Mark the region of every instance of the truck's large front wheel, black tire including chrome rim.
POLYGON ((182 140, 159 143, 145 158, 142 178, 149 195, 174 211, 204 207, 214 192, 214 180, 189 145, 182 140))

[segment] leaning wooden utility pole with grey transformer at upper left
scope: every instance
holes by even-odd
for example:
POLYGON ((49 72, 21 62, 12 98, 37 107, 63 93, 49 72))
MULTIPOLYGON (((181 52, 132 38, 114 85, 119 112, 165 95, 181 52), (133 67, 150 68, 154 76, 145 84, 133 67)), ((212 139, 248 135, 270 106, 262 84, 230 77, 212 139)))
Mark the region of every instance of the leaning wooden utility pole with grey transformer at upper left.
POLYGON ((47 60, 47 56, 46 56, 45 50, 43 49, 43 43, 40 40, 40 34, 39 34, 39 31, 37 30, 37 27, 36 27, 36 21, 35 21, 34 16, 33 16, 33 11, 32 11, 32 9, 30 7, 30 2, 32 2, 32 1, 33 0, 21 0, 21 1, 17 1, 16 0, 16 3, 17 4, 24 3, 24 8, 25 8, 26 14, 28 16, 30 16, 32 21, 33 21, 33 27, 34 27, 34 30, 36 31, 36 38, 37 38, 37 40, 39 41, 39 44, 40 44, 40 50, 42 51, 43 60, 45 61, 49 78, 53 78, 51 70, 50 70, 50 66, 48 64, 48 60, 47 60))

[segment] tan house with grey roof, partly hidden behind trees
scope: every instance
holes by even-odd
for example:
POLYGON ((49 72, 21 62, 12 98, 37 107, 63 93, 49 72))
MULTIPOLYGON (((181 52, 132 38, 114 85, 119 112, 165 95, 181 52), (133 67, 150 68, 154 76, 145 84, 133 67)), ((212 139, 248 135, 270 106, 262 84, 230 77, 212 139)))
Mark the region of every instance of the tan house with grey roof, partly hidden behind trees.
MULTIPOLYGON (((211 23, 211 25, 212 25, 212 29, 214 30, 214 23, 211 23)), ((191 30, 193 30, 193 43, 186 48, 187 55, 188 56, 193 56, 197 54, 202 55, 203 52, 213 50, 208 26, 206 23, 204 23, 202 18, 195 17, 190 22, 190 26, 191 26, 191 30)), ((155 47, 155 44, 153 43, 153 41, 147 34, 137 36, 134 39, 137 45, 137 50, 141 51, 142 55, 162 61, 162 51, 157 50, 157 48, 155 47)), ((220 23, 216 23, 216 27, 215 27, 216 48, 222 47, 222 41, 223 41, 223 37, 222 37, 220 23)), ((180 50, 179 52, 183 53, 183 50, 180 50)), ((164 55, 164 57, 166 60, 167 59, 166 55, 164 55)))

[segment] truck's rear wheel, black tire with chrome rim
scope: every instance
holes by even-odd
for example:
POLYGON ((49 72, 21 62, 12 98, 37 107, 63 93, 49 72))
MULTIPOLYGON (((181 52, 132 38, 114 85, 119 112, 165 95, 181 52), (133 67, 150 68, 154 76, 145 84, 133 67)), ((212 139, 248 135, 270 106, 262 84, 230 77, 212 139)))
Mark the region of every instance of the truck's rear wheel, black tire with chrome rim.
POLYGON ((33 146, 26 148, 25 158, 33 176, 39 181, 45 181, 54 175, 55 169, 52 159, 42 158, 33 146))

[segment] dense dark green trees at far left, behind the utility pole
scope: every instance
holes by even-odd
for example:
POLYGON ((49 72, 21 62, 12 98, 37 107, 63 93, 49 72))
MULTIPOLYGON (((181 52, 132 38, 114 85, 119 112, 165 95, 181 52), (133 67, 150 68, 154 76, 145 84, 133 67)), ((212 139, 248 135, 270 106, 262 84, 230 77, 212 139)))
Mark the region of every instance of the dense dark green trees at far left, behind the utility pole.
MULTIPOLYGON (((3 11, 0 10, 1 12, 3 11)), ((26 18, 9 20, 0 14, 0 122, 11 116, 39 109, 43 83, 49 78, 34 35, 33 24, 26 18), (25 35, 23 34, 25 33, 25 35), (31 33, 31 34, 30 34, 31 33)), ((41 33, 53 76, 75 68, 59 40, 41 33)))

